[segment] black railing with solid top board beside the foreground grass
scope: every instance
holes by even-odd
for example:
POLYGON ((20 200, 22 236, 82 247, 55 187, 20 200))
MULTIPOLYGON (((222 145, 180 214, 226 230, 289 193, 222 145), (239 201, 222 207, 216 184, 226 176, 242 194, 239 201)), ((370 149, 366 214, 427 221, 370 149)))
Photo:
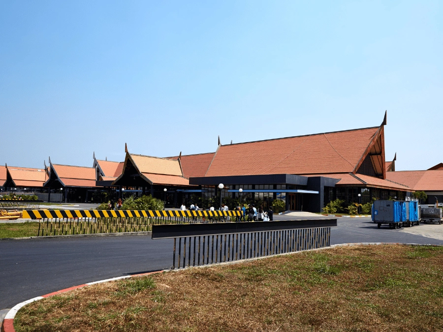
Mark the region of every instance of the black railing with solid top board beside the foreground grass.
POLYGON ((172 269, 329 246, 337 219, 154 225, 153 239, 174 238, 172 269))

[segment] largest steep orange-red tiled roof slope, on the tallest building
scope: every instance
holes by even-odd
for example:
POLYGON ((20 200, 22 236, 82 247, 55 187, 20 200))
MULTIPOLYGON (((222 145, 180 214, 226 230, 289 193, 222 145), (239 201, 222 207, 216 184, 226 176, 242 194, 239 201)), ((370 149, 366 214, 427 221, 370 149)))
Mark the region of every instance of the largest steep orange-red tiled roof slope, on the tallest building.
POLYGON ((352 172, 380 127, 223 145, 206 176, 352 172))

